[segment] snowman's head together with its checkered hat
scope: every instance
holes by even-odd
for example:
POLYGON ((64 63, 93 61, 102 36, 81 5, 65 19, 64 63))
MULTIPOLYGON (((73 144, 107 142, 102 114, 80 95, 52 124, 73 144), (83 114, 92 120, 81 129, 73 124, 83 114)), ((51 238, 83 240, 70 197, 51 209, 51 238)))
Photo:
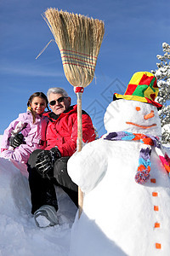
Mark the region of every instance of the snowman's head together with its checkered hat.
POLYGON ((105 113, 108 132, 129 131, 161 138, 161 122, 155 101, 158 95, 156 77, 150 72, 133 74, 124 95, 115 93, 105 113))

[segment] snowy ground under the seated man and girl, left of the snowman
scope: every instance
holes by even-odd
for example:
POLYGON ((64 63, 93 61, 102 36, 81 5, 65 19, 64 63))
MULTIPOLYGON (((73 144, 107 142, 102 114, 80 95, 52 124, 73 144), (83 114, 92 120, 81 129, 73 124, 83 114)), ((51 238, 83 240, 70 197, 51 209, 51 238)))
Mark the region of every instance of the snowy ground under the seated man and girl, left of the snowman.
MULTIPOLYGON (((1 139, 2 136, 0 142, 1 139)), ((71 225, 77 208, 63 190, 56 192, 59 224, 40 229, 31 215, 26 166, 0 158, 0 256, 69 254, 71 225)))

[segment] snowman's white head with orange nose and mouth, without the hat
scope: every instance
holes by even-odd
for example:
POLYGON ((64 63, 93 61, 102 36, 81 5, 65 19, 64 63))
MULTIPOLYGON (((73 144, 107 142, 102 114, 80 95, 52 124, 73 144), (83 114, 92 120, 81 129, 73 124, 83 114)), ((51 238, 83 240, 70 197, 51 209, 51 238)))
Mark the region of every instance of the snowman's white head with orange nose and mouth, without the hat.
POLYGON ((120 99, 106 109, 107 132, 129 131, 161 138, 161 121, 157 108, 149 103, 120 99))

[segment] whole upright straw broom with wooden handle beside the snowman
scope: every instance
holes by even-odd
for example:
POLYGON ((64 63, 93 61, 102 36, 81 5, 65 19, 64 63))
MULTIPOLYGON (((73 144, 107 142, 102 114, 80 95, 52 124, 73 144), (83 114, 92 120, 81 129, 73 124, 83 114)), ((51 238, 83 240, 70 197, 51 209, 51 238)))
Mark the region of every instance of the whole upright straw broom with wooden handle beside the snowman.
MULTIPOLYGON (((58 9, 43 16, 59 47, 65 77, 77 94, 77 151, 82 150, 82 92, 94 79, 96 61, 104 37, 104 22, 58 9)), ((78 188, 79 218, 83 194, 78 188)))

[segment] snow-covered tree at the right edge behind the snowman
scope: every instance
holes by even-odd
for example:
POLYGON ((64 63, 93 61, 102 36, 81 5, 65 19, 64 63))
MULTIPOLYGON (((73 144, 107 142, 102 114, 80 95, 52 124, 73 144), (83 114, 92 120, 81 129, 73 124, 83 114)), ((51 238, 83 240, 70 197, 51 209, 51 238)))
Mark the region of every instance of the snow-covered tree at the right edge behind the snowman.
POLYGON ((164 55, 156 55, 160 62, 156 63, 157 69, 155 71, 151 70, 151 73, 156 76, 159 87, 156 101, 163 105, 159 110, 161 127, 166 125, 162 130, 162 143, 170 143, 170 131, 166 129, 167 124, 170 125, 170 45, 163 43, 162 50, 164 55))

